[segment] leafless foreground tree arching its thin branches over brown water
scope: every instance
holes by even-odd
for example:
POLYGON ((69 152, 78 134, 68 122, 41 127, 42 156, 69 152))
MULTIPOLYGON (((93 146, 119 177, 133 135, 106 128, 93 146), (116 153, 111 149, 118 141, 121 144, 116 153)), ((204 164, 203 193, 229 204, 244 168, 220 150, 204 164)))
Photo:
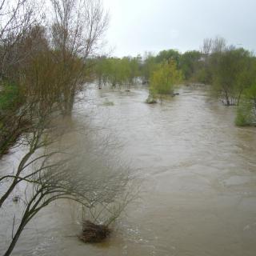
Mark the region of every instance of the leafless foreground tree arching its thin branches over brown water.
MULTIPOLYGON (((22 158, 23 162, 16 173, 5 174, 0 179, 2 184, 5 182, 9 186, 7 192, 18 188, 21 208, 21 212, 15 213, 10 246, 4 255, 10 255, 25 226, 50 202, 57 199, 78 202, 90 211, 94 222, 103 219, 108 226, 134 198, 134 190, 128 188, 132 182, 129 171, 125 166, 114 166, 107 159, 101 164, 95 158, 96 151, 102 154, 98 146, 93 149, 90 144, 90 148, 78 154, 76 150, 63 150, 62 146, 58 148, 53 145, 50 134, 28 134, 28 137, 26 141, 29 140, 35 145, 38 143, 38 150, 35 154, 28 153, 26 158, 22 158), (45 136, 48 137, 47 140, 45 136), (50 143, 51 149, 46 146, 46 141, 50 143), (119 210, 114 210, 117 206, 119 210), (102 213, 104 216, 100 218, 102 213)), ((33 149, 30 146, 30 150, 33 149)), ((10 199, 10 194, 8 198, 10 199)))

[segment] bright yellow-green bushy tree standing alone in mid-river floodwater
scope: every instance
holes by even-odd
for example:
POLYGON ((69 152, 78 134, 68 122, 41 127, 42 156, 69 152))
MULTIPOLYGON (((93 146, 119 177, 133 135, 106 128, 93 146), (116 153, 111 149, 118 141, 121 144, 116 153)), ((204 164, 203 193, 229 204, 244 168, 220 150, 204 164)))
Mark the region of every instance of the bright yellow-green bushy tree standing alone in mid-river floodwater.
POLYGON ((150 77, 150 94, 172 94, 174 86, 182 81, 182 71, 174 61, 163 62, 150 77))

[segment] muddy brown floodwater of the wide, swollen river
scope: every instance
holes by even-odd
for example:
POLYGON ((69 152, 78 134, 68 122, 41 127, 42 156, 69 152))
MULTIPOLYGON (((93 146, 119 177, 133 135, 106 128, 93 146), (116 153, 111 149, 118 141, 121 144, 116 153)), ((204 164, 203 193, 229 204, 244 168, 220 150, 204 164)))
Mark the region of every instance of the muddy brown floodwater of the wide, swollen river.
MULTIPOLYGON (((79 233, 74 210, 57 202, 30 222, 13 255, 254 256, 256 129, 235 127, 234 108, 202 87, 179 93, 147 105, 143 88, 89 90, 90 107, 79 102, 74 122, 86 122, 89 111, 92 126, 114 134, 122 145, 119 158, 144 180, 141 197, 101 245, 70 236, 79 233)), ((0 254, 7 228, 0 230, 0 254)))

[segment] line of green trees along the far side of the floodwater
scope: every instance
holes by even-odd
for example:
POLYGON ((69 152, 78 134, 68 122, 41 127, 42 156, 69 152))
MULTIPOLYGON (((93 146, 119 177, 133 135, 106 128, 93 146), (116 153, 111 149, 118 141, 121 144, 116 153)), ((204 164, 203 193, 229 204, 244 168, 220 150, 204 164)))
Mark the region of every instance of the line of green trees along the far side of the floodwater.
POLYGON ((183 54, 162 50, 136 58, 98 57, 94 75, 99 87, 106 83, 114 87, 149 84, 153 102, 159 95, 173 94, 178 83, 207 84, 224 105, 237 106, 238 126, 256 122, 256 58, 249 50, 227 45, 224 38, 206 38, 201 50, 183 54))

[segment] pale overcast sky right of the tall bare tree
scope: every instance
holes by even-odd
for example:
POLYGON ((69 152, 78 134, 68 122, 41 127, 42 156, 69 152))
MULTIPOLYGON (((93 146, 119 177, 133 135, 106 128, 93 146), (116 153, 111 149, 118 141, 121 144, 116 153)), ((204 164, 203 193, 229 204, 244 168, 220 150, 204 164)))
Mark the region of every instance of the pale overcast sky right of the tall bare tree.
POLYGON ((256 0, 102 0, 115 56, 199 50, 204 38, 256 49, 256 0))

